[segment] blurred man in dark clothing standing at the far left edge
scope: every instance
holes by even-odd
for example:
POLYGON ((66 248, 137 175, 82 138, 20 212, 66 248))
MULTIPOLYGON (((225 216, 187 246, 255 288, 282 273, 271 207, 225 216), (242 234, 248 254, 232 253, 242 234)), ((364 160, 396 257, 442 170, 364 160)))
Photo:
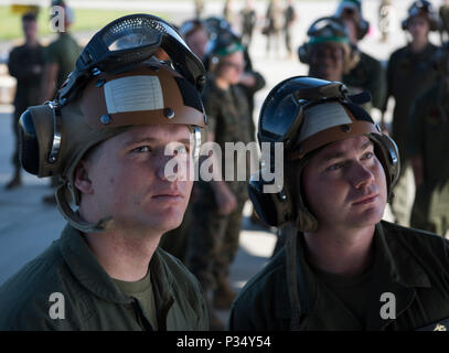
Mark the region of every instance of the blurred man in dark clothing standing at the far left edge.
POLYGON ((14 174, 4 186, 7 190, 22 184, 19 161, 19 130, 18 121, 23 111, 30 106, 40 104, 40 86, 44 65, 43 47, 38 41, 38 22, 35 13, 25 13, 22 17, 22 29, 25 43, 12 49, 9 61, 9 74, 17 79, 14 96, 14 114, 12 116, 12 130, 15 137, 14 152, 11 162, 14 174))

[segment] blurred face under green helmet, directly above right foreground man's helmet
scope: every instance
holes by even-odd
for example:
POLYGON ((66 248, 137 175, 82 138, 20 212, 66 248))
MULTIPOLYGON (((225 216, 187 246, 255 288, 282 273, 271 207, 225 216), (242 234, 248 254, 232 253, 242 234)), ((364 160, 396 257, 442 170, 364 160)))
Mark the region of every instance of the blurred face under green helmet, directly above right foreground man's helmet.
POLYGON ((310 57, 310 76, 328 81, 342 81, 343 66, 344 52, 341 44, 313 45, 310 57))

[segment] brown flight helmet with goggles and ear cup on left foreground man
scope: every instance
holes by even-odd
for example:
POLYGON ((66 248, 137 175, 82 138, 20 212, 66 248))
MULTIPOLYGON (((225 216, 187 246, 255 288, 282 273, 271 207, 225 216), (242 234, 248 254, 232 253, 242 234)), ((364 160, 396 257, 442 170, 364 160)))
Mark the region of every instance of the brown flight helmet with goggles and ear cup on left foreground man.
POLYGON ((205 114, 202 62, 172 25, 151 14, 117 19, 96 33, 53 101, 30 107, 20 118, 22 167, 60 180, 57 206, 82 232, 106 229, 110 217, 89 224, 72 207, 79 160, 93 147, 136 125, 182 124, 200 153, 205 114))

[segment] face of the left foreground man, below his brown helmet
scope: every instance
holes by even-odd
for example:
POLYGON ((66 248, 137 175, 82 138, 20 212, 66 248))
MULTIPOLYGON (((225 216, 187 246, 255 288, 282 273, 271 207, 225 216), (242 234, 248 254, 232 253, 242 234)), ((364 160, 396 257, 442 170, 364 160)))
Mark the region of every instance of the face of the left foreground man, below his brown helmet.
POLYGON ((185 146, 184 167, 189 170, 193 161, 190 130, 184 125, 135 126, 98 146, 85 161, 93 190, 87 196, 97 217, 113 216, 122 227, 161 232, 178 227, 193 181, 185 171, 181 175, 181 169, 179 180, 170 181, 165 174, 173 157, 164 150, 173 141, 185 146))

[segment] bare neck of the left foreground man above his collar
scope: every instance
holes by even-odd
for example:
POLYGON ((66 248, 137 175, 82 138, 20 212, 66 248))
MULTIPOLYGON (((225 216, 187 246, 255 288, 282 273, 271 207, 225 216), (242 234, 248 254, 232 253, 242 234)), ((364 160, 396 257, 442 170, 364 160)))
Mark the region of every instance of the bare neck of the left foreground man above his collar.
POLYGON ((110 277, 138 281, 147 275, 162 234, 115 229, 85 236, 94 256, 110 277))

